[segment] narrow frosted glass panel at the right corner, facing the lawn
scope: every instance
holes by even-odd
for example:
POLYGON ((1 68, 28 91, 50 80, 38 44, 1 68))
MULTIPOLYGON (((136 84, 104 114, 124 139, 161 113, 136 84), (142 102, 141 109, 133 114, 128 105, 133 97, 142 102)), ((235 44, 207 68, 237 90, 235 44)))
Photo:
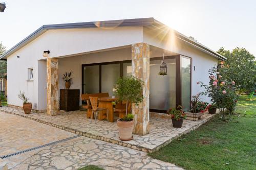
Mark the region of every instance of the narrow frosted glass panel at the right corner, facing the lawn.
POLYGON ((181 57, 181 104, 185 111, 190 109, 190 59, 181 57))

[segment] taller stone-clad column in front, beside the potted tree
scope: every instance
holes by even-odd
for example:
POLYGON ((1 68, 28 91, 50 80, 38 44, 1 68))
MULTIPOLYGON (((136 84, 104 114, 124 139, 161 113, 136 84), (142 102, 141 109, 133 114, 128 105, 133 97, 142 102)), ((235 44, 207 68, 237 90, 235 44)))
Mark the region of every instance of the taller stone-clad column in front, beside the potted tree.
POLYGON ((143 102, 136 106, 133 104, 134 115, 133 133, 138 135, 148 134, 150 131, 150 45, 136 43, 132 45, 133 76, 141 79, 143 85, 143 102))

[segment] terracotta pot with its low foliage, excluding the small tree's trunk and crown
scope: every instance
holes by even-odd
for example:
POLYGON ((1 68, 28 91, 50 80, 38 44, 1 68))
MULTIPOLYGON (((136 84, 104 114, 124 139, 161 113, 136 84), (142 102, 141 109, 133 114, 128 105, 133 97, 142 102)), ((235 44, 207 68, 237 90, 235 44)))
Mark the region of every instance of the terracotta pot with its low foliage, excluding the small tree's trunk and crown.
POLYGON ((119 138, 120 140, 131 140, 133 133, 133 114, 127 114, 123 118, 117 119, 117 126, 119 128, 119 138))

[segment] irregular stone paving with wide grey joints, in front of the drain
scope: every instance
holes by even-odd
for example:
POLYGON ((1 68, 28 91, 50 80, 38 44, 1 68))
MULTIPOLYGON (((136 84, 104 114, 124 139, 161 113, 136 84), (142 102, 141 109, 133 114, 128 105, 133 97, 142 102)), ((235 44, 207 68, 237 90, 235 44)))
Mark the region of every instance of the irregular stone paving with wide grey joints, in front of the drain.
MULTIPOLYGON (((28 153, 29 154, 29 153, 28 153)), ((14 156, 9 161, 16 161, 14 156)), ((116 169, 182 169, 172 163, 148 157, 145 152, 121 147, 117 144, 78 137, 46 147, 27 157, 15 169, 77 169, 92 164, 107 170, 116 169)))

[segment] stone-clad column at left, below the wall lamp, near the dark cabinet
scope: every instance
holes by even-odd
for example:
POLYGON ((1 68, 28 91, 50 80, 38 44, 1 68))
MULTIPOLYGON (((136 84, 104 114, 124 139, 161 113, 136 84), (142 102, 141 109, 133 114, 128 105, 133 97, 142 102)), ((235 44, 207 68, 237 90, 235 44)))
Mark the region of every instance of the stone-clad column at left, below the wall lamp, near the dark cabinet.
POLYGON ((58 115, 59 110, 59 78, 58 59, 47 58, 47 114, 58 115))

